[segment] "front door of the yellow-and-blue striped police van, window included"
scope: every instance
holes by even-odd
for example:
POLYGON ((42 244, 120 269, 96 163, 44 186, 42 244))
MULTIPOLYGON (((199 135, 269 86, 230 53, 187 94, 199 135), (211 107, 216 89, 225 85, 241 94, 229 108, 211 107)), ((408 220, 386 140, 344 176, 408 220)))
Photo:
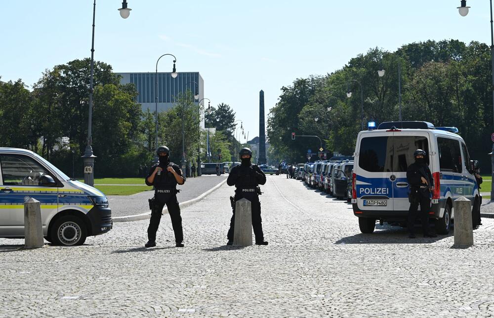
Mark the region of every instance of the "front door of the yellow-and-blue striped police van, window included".
POLYGON ((58 210, 58 188, 39 185, 43 174, 49 174, 37 160, 23 154, 1 154, 0 233, 24 236, 24 199, 41 202, 41 219, 58 210))

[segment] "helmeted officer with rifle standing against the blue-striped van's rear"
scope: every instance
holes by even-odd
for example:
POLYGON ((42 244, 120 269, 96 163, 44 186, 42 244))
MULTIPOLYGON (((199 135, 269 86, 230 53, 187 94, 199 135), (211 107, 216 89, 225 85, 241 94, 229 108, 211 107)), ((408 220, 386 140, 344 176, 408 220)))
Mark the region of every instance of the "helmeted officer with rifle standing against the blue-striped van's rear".
POLYGON ((436 234, 429 229, 429 211, 431 209, 431 193, 434 190, 434 181, 431 170, 425 162, 426 153, 422 149, 417 149, 413 153, 415 162, 407 169, 407 179, 410 184, 410 209, 408 211, 408 231, 409 238, 415 238, 413 227, 417 218, 418 205, 420 204, 420 217, 424 238, 435 238, 436 234))

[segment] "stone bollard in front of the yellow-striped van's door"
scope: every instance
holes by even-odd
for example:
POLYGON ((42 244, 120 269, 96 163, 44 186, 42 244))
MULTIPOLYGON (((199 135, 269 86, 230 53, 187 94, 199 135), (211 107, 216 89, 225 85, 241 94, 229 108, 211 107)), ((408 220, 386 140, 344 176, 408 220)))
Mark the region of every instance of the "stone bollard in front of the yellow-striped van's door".
POLYGON ((24 238, 25 248, 44 246, 41 204, 33 198, 24 200, 24 238))

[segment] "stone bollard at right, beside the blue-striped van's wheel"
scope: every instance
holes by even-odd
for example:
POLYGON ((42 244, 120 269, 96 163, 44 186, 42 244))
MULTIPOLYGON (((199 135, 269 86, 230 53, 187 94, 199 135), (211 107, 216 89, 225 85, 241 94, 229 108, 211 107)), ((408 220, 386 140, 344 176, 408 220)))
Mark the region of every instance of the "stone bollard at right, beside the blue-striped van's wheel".
POLYGON ((454 246, 473 245, 472 203, 465 197, 454 200, 454 246))

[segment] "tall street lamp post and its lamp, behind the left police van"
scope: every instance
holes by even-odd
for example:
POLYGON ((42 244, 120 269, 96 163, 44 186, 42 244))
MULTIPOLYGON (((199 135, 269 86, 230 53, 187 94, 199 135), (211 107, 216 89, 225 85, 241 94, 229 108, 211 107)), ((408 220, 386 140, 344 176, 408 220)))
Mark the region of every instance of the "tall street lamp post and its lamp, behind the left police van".
MULTIPOLYGON (((120 15, 126 19, 130 14, 129 8, 127 8, 127 1, 124 0, 122 2, 122 8, 119 9, 120 15)), ((93 24, 92 24, 92 36, 91 36, 91 73, 89 75, 89 114, 87 119, 87 145, 84 150, 84 183, 90 185, 91 187, 94 185, 94 153, 92 151, 92 95, 93 95, 93 80, 94 80, 94 21, 96 17, 96 0, 93 1, 93 24)))

